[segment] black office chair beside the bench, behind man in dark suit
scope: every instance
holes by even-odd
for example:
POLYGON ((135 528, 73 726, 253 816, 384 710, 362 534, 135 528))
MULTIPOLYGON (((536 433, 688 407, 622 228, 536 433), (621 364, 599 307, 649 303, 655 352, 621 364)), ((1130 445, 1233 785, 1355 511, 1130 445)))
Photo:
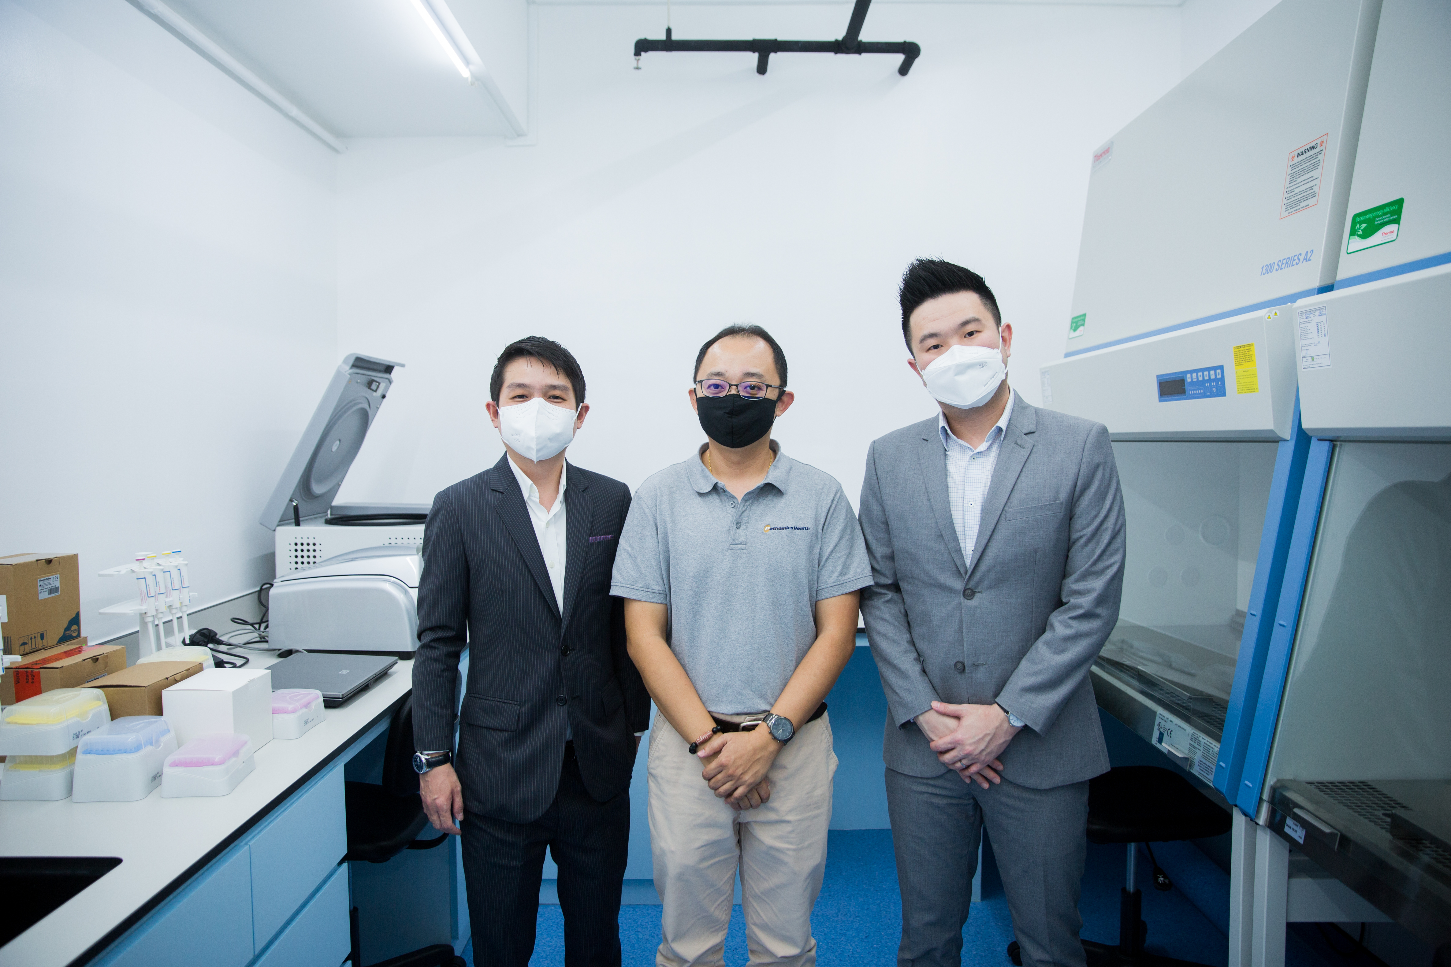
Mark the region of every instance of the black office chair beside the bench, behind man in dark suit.
MULTIPOLYGON (((387 863, 403 850, 432 850, 448 835, 418 839, 428 825, 418 797, 418 773, 414 771, 414 693, 409 692, 393 710, 383 751, 383 783, 344 783, 348 813, 348 852, 342 861, 387 863)), ((358 951, 358 912, 353 908, 353 967, 363 967, 358 951)), ((371 967, 464 967, 448 944, 434 944, 409 954, 392 957, 371 967)))

